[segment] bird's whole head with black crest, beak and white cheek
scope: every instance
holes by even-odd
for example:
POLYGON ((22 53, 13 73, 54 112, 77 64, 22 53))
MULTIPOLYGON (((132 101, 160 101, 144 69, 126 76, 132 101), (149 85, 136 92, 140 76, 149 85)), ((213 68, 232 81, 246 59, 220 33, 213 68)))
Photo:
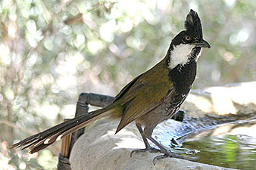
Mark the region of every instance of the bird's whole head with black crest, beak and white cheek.
POLYGON ((201 48, 211 48, 208 42, 203 39, 201 20, 198 14, 190 10, 186 17, 185 28, 170 43, 168 53, 168 67, 170 70, 177 65, 184 66, 189 60, 198 60, 201 48))

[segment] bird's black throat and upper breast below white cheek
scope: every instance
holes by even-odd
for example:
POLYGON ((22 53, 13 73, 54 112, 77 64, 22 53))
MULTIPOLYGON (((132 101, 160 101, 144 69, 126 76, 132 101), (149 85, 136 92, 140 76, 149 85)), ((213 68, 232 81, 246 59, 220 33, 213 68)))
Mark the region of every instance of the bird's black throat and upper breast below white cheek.
POLYGON ((196 76, 196 57, 200 51, 201 48, 194 48, 189 56, 188 63, 183 66, 178 64, 169 71, 169 79, 173 82, 174 88, 178 94, 188 94, 192 88, 196 76))

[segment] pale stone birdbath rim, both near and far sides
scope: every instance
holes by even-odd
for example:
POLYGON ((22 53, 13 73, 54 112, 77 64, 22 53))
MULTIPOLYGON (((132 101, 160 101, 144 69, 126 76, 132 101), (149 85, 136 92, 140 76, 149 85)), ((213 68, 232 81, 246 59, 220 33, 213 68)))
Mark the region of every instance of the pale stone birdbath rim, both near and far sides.
MULTIPOLYGON (((183 110, 186 110, 186 116, 190 119, 196 118, 195 122, 200 122, 206 114, 214 117, 228 117, 230 114, 254 116, 256 113, 255 87, 256 82, 247 82, 192 91, 186 103, 183 104, 183 110)), ((73 170, 229 169, 174 158, 161 159, 153 165, 152 160, 159 153, 134 153, 133 157, 130 157, 132 150, 145 148, 145 146, 134 123, 127 125, 114 135, 118 123, 119 120, 99 120, 76 141, 70 155, 73 170)), ((153 137, 159 136, 158 141, 162 144, 164 141, 170 144, 171 137, 165 134, 183 125, 184 123, 167 120, 155 128, 153 137), (164 138, 161 134, 164 134, 162 135, 164 138)))

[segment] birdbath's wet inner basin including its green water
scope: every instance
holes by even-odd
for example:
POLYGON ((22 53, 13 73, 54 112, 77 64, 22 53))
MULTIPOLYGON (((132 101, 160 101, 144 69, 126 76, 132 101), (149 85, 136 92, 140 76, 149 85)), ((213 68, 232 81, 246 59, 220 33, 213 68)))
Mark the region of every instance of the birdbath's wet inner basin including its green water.
POLYGON ((208 165, 242 170, 256 170, 255 113, 228 116, 186 116, 183 122, 167 120, 155 128, 153 137, 165 146, 170 139, 198 153, 189 160, 208 165))

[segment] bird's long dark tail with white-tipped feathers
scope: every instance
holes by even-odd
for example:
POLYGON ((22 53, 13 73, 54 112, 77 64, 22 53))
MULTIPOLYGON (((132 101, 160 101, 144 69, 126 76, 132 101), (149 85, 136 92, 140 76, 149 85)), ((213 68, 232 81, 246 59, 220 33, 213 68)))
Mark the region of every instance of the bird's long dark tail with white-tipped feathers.
POLYGON ((89 115, 83 115, 70 119, 66 122, 55 125, 52 128, 48 128, 38 134, 34 134, 29 138, 23 139, 22 141, 13 144, 10 149, 14 147, 23 147, 22 150, 29 149, 30 153, 38 152, 39 150, 53 144, 55 141, 64 138, 73 131, 83 128, 101 117, 108 116, 112 112, 113 109, 107 107, 104 109, 95 110, 89 115))

